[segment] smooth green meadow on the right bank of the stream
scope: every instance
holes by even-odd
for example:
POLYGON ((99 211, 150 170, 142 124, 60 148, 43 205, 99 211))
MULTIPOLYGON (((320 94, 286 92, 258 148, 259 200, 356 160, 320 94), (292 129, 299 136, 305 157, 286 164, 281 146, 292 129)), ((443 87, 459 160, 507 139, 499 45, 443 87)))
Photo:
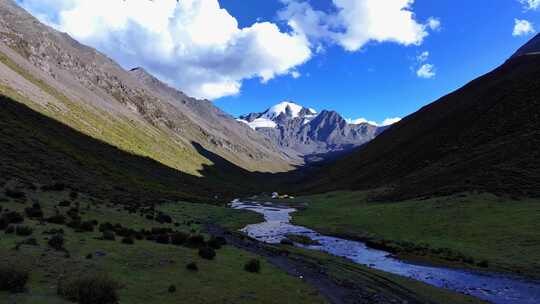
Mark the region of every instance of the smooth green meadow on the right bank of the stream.
MULTIPOLYGON (((457 194, 402 202, 368 192, 299 197, 296 224, 367 241, 402 258, 540 278, 540 201, 457 194)), ((284 201, 283 203, 291 203, 284 201)))

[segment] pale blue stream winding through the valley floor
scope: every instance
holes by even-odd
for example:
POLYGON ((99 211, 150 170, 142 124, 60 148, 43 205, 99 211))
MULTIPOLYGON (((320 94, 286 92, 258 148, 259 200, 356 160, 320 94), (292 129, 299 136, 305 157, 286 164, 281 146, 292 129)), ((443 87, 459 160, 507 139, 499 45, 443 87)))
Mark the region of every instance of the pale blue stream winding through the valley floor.
POLYGON ((362 242, 325 236, 309 228, 293 225, 291 224, 291 213, 296 211, 293 208, 271 203, 241 202, 239 200, 233 201, 231 207, 251 210, 264 215, 265 221, 263 223, 248 225, 242 229, 250 237, 262 242, 277 244, 290 233, 305 235, 319 242, 319 245, 295 245, 348 258, 358 264, 471 295, 492 303, 540 303, 540 282, 531 282, 500 274, 416 265, 400 261, 388 252, 368 248, 362 242))

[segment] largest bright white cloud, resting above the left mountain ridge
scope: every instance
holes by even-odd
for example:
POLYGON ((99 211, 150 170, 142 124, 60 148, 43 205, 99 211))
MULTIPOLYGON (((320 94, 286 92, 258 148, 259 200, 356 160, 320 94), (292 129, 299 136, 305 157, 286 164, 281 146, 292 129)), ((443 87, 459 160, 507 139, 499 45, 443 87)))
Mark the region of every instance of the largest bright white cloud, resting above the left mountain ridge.
POLYGON ((294 73, 312 56, 307 39, 276 24, 240 28, 218 0, 24 0, 30 12, 124 67, 143 66, 186 93, 218 98, 242 81, 294 73))

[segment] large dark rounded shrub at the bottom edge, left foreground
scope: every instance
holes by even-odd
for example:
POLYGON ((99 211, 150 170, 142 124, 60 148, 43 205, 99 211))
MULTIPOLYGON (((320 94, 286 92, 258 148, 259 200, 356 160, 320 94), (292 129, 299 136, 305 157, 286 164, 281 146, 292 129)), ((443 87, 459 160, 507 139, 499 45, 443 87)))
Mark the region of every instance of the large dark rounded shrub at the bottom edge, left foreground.
POLYGON ((79 304, 116 304, 120 285, 105 275, 87 275, 60 281, 58 295, 79 304))

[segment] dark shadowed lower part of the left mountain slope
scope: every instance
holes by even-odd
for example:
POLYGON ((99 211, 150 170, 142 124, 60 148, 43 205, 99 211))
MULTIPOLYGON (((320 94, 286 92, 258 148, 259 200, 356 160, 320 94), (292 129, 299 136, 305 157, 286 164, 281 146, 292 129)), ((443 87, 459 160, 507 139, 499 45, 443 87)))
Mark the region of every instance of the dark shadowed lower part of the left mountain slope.
POLYGON ((193 145, 214 162, 199 171, 200 177, 120 150, 0 96, 0 183, 16 179, 31 187, 56 184, 131 204, 224 202, 254 191, 259 174, 193 145))

